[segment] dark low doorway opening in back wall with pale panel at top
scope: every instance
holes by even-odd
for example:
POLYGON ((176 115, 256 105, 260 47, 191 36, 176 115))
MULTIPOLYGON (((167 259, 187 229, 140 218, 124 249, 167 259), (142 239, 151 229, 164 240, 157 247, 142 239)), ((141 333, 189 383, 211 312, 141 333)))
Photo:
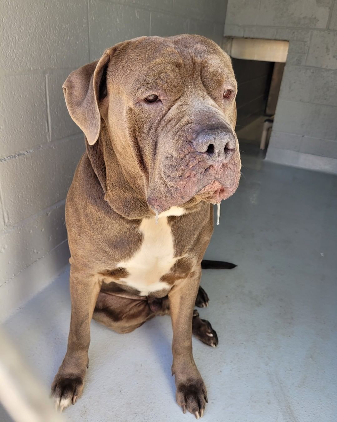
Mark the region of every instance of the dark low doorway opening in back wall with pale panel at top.
MULTIPOLYGON (((238 82, 236 134, 241 143, 267 149, 288 52, 288 41, 224 38, 238 82)), ((265 154, 263 154, 265 155, 265 154)))

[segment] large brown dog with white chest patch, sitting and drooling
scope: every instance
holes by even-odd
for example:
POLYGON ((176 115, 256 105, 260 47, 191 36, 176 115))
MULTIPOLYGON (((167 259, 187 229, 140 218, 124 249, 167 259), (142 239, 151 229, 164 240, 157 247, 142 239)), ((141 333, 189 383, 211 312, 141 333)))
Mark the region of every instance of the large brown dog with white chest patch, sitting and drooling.
POLYGON ((201 260, 211 204, 235 192, 241 168, 230 59, 198 35, 141 37, 75 70, 63 89, 86 153, 67 196, 72 313, 56 404, 82 393, 92 317, 128 333, 169 313, 177 402, 199 418, 207 395, 192 331, 217 345, 193 312, 207 304, 201 260))

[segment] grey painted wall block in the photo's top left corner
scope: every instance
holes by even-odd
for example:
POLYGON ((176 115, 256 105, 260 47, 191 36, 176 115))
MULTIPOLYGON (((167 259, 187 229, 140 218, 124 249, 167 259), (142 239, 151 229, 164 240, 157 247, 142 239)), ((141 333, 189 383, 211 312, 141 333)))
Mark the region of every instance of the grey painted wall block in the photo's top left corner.
POLYGON ((72 68, 87 63, 87 15, 87 0, 1 2, 1 68, 72 68))

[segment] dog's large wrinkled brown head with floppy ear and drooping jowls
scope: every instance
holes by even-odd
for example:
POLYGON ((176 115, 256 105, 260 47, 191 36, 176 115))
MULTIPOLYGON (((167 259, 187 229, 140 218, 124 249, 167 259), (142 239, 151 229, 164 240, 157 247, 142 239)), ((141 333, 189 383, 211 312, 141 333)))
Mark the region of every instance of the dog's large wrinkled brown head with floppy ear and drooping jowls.
POLYGON ((198 35, 141 37, 72 72, 64 95, 93 145, 104 130, 152 210, 232 195, 240 179, 230 58, 198 35))

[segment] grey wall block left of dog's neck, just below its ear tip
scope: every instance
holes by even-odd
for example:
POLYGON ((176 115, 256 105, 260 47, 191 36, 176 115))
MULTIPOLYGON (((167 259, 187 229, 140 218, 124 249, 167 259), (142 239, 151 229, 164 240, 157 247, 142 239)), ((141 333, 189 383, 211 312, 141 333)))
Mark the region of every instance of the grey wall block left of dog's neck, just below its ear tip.
POLYGON ((83 151, 83 135, 78 135, 1 162, 8 226, 64 199, 83 151))

